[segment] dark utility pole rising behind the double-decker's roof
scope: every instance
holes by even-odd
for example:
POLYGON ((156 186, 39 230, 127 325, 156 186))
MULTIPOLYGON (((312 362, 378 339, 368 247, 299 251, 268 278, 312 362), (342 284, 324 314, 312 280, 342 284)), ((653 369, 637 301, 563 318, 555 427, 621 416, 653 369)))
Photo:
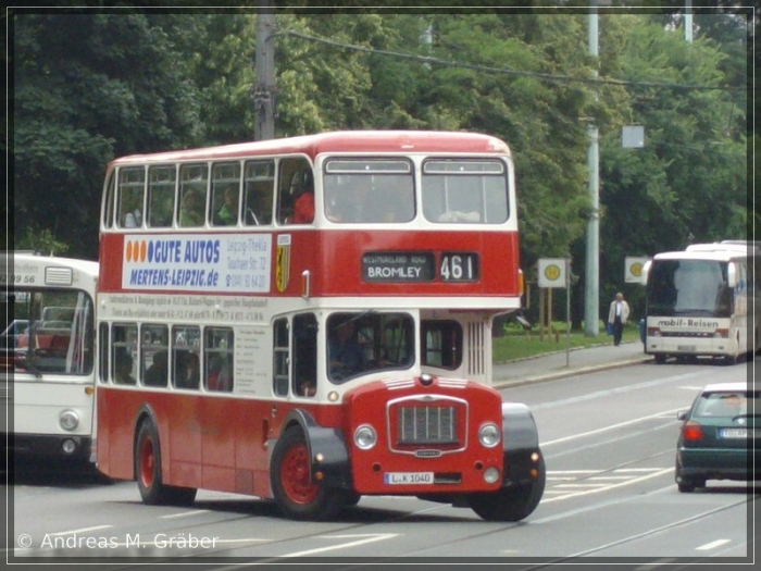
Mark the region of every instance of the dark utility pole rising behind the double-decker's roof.
POLYGON ((275 12, 271 0, 257 0, 257 55, 253 86, 253 140, 275 138, 275 12))

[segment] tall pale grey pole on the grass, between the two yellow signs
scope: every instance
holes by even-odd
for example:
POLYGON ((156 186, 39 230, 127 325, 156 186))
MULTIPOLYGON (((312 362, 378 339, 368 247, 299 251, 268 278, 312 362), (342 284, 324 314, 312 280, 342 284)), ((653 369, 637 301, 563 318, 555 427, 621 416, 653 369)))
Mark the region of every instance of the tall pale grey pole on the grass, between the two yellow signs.
MULTIPOLYGON (((597 0, 592 0, 589 7, 589 55, 595 60, 597 60, 598 57, 597 25, 597 0)), ((595 65, 597 65, 597 63, 595 65)), ((595 70, 592 76, 597 78, 597 70, 595 70)), ((597 98, 597 94, 595 94, 595 97, 597 98)), ((589 206, 591 214, 587 221, 584 335, 587 337, 597 337, 600 328, 600 134, 594 120, 589 121, 587 124, 587 135, 589 136, 587 167, 589 170, 589 206)))

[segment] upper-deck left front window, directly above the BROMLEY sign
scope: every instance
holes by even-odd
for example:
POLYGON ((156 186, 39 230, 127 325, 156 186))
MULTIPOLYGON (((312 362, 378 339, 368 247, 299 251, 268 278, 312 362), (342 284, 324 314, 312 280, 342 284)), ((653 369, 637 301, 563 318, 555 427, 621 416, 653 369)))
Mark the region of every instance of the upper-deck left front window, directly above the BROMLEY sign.
POLYGON ((332 159, 325 216, 345 223, 403 223, 415 216, 412 164, 404 159, 332 159))

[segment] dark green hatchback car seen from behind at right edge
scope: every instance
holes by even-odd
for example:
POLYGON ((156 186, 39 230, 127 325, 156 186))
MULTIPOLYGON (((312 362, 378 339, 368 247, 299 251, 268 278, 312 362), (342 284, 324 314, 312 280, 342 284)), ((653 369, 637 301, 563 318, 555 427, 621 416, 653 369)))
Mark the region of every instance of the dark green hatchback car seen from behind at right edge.
POLYGON ((761 477, 761 398, 748 383, 707 385, 689 410, 676 444, 679 492, 706 487, 707 480, 761 477))

